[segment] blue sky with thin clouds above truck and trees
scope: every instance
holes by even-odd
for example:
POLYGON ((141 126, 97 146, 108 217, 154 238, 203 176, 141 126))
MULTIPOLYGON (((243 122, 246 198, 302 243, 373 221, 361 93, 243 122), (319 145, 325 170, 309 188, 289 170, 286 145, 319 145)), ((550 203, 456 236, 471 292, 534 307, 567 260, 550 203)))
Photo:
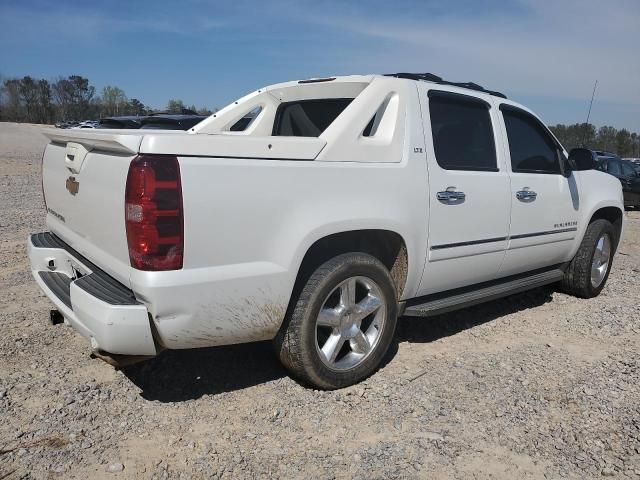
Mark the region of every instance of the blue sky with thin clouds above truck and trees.
POLYGON ((640 0, 0 0, 0 75, 88 77, 163 107, 279 81, 432 72, 549 124, 640 132, 640 0))

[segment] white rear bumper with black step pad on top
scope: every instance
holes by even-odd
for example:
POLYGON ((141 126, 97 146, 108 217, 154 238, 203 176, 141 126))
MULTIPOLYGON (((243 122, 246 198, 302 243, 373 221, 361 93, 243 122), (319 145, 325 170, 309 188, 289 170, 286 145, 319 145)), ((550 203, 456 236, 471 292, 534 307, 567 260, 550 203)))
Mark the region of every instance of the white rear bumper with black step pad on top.
POLYGON ((38 286, 93 350, 158 353, 147 308, 131 290, 49 232, 31 235, 27 251, 38 286))

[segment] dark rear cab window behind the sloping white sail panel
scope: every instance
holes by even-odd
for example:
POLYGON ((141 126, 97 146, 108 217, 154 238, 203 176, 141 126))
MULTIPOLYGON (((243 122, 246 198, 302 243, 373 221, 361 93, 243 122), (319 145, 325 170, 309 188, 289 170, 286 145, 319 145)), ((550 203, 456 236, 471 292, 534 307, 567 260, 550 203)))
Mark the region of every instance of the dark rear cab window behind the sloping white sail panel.
POLYGON ((318 137, 352 101, 352 98, 323 98, 282 103, 276 112, 273 135, 318 137))

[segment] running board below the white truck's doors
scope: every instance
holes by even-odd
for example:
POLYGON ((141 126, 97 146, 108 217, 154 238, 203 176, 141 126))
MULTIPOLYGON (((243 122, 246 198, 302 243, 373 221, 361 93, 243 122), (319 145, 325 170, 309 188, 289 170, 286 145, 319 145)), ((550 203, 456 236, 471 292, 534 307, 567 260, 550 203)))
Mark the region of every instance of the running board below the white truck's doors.
MULTIPOLYGON (((542 287, 562 279, 564 272, 561 269, 547 270, 534 275, 520 277, 513 280, 505 280, 500 283, 492 282, 487 286, 475 289, 456 289, 454 292, 429 295, 408 301, 403 315, 408 317, 430 317, 441 313, 458 310, 460 308, 477 305, 497 298, 524 292, 532 288, 542 287), (460 290, 466 290, 460 293, 460 290), (412 304, 414 303, 414 304, 412 304)), ((472 287, 471 287, 472 288, 472 287)))

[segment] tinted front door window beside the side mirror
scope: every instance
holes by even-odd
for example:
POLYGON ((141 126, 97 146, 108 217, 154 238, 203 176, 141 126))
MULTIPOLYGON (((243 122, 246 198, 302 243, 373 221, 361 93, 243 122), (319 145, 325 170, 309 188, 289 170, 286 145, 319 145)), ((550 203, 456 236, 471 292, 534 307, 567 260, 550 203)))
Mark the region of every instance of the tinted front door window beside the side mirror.
POLYGON ((507 127, 511 170, 523 173, 560 173, 558 147, 533 116, 503 108, 507 127))

